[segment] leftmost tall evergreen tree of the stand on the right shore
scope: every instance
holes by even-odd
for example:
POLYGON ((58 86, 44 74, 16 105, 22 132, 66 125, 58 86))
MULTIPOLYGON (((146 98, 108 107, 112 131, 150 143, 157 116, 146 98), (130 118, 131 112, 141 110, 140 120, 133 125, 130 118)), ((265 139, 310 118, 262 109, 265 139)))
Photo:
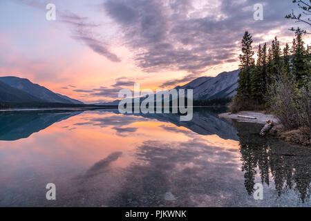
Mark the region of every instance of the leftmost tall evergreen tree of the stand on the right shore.
POLYGON ((251 97, 251 77, 252 68, 254 68, 254 51, 252 48, 252 35, 246 31, 242 39, 242 52, 240 55, 240 68, 242 69, 238 79, 238 99, 250 99, 251 97))

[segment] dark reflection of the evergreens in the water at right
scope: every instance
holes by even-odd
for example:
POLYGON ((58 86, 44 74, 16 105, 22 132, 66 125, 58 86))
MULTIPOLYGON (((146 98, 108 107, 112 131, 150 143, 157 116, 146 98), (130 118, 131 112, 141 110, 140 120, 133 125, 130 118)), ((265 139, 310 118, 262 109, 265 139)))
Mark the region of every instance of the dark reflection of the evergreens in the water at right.
POLYGON ((261 182, 269 186, 270 175, 279 196, 285 191, 298 191, 301 202, 310 199, 311 150, 285 144, 274 137, 258 135, 260 126, 234 122, 240 138, 242 171, 245 188, 254 192, 255 175, 259 171, 261 182))

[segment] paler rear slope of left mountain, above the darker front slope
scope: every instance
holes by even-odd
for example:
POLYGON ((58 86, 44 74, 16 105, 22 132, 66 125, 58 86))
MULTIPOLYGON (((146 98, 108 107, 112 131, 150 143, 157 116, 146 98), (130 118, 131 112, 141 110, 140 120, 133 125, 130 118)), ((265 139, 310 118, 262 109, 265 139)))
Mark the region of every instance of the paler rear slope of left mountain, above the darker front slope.
POLYGON ((71 99, 70 97, 66 97, 64 95, 57 95, 53 93, 53 91, 48 90, 43 86, 39 86, 39 84, 33 84, 28 79, 23 79, 19 77, 0 77, 0 81, 13 88, 17 88, 26 92, 34 97, 37 97, 41 100, 41 102, 50 102, 50 103, 64 103, 64 104, 83 104, 82 102, 71 99))

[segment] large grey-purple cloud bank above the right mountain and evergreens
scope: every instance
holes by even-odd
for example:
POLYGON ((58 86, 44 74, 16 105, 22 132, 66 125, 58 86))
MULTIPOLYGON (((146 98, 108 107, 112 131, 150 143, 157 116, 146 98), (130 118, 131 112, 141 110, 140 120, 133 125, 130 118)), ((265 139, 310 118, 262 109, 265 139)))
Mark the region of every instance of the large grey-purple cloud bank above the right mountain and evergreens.
MULTIPOLYGON (((103 6, 106 15, 120 26, 138 67, 146 72, 185 70, 199 75, 209 66, 237 61, 245 30, 290 33, 289 21, 284 19, 292 8, 290 1, 261 1, 264 21, 254 21, 255 3, 107 0, 103 6)), ((264 42, 263 37, 258 41, 264 42)))

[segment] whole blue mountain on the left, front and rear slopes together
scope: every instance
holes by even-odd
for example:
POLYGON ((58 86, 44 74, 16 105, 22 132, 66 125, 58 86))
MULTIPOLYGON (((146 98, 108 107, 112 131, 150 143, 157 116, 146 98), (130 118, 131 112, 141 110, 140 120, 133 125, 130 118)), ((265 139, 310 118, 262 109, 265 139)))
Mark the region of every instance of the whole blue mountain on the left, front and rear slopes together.
POLYGON ((75 99, 54 93, 48 88, 19 77, 0 77, 0 102, 49 102, 83 104, 75 99), (8 96, 10 95, 10 96, 8 96))

